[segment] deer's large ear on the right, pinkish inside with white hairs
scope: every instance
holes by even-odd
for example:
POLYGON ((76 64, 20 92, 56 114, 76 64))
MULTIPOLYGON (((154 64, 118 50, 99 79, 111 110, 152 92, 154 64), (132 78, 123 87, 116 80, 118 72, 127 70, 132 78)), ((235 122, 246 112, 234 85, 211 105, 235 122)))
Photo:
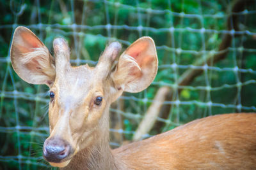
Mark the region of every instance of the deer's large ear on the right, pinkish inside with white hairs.
POLYGON ((142 37, 132 43, 120 56, 111 74, 115 88, 126 92, 146 89, 157 73, 156 46, 152 38, 142 37))

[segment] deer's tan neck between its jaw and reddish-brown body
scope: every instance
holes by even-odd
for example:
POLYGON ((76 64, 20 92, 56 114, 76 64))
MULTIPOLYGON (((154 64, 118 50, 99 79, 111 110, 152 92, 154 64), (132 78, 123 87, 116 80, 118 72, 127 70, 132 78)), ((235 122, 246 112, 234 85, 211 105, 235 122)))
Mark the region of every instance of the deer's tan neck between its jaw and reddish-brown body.
POLYGON ((64 169, 118 169, 109 146, 109 106, 106 107, 97 130, 97 139, 92 145, 78 152, 64 169))

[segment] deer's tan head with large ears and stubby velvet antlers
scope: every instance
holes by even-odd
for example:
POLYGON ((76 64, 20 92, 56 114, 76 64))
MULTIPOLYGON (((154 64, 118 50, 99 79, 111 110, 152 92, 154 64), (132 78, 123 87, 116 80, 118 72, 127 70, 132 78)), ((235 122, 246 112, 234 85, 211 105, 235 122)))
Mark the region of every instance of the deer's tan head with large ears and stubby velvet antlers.
POLYGON ((24 81, 50 89, 50 136, 43 155, 52 166, 67 166, 77 152, 97 143, 102 134, 108 136, 109 105, 122 92, 140 92, 154 80, 157 53, 151 38, 138 39, 118 57, 121 48, 118 42, 110 43, 97 66, 73 67, 65 39, 54 39, 54 59, 29 29, 15 30, 13 69, 24 81))

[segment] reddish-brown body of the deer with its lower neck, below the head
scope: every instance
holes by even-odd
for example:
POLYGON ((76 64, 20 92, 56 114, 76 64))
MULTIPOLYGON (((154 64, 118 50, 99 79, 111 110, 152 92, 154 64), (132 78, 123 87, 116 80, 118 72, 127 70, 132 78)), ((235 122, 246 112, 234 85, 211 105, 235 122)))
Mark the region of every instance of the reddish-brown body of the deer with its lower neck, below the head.
POLYGON ((255 169, 255 121, 255 113, 216 115, 115 150, 106 139, 63 169, 255 169))

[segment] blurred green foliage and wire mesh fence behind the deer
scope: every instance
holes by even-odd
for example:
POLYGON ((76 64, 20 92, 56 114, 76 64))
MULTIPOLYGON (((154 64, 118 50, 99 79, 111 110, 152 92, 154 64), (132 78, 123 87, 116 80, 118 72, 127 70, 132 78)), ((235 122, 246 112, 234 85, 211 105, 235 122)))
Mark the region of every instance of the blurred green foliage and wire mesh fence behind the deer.
POLYGON ((163 106, 144 138, 196 118, 256 111, 256 1, 1 0, 0 10, 0 169, 51 168, 42 159, 48 89, 21 80, 10 63, 18 25, 51 52, 54 38, 67 39, 74 66, 94 66, 109 41, 125 49, 141 36, 154 39, 156 79, 111 106, 113 148, 132 140, 163 87, 163 106))

